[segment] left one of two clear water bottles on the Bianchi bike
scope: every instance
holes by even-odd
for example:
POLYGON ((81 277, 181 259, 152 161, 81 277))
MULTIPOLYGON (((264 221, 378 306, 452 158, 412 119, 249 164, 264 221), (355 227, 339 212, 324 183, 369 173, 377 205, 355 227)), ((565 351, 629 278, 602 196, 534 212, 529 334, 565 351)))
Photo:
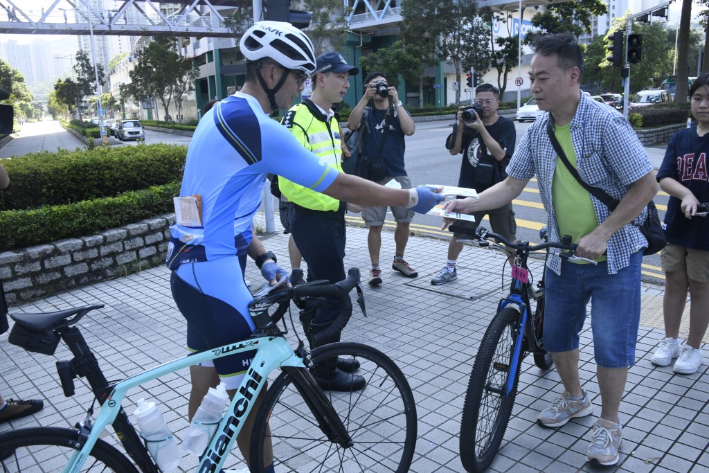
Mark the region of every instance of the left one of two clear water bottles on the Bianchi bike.
POLYGON ((147 443, 147 450, 163 472, 169 472, 179 466, 182 455, 177 440, 170 432, 162 414, 154 402, 138 399, 138 408, 133 411, 138 421, 140 434, 147 443))

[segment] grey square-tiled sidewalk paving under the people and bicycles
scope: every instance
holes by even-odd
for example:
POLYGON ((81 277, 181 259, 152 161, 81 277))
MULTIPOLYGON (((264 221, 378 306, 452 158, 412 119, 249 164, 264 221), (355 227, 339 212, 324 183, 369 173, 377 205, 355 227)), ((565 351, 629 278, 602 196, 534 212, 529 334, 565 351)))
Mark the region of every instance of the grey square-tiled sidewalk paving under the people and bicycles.
MULTIPOLYGON (((369 264, 367 230, 348 228, 347 237, 346 265, 360 267, 364 275, 369 264)), ((264 236, 265 246, 281 262, 288 261, 287 241, 288 235, 282 233, 264 236)), ((406 260, 420 276, 407 279, 385 263, 393 257, 393 234, 384 233, 384 284, 365 288, 369 317, 355 311, 342 335, 343 340, 383 350, 408 377, 418 408, 419 438, 411 467, 415 473, 463 471, 458 435, 464 394, 476 349, 502 295, 501 288, 507 285, 501 276, 505 258, 500 252, 467 247, 459 260, 458 280, 432 286, 430 277, 445 262, 446 250, 445 240, 412 237, 406 260)), ((534 260, 532 274, 539 277, 541 265, 541 260, 534 260)), ((252 288, 260 285, 260 274, 252 263, 247 277, 252 288)), ((643 284, 644 312, 661 310, 662 289, 643 284)), ((164 267, 74 289, 11 311, 53 311, 97 302, 106 307, 84 317, 80 325, 108 379, 137 374, 184 353, 184 319, 170 296, 169 274, 164 267)), ((640 328, 637 365, 630 369, 621 406, 625 438, 620 464, 603 471, 709 472, 708 357, 700 372, 690 376, 674 374, 671 367, 653 367, 649 359, 661 336, 658 328, 640 328)), ((581 379, 598 415, 600 399, 589 330, 582 333, 581 343, 581 379)), ((69 358, 63 344, 55 359, 24 352, 9 345, 7 335, 0 336, 0 393, 6 398, 46 399, 43 411, 0 424, 0 432, 33 425, 70 426, 82 418, 91 399, 84 382, 77 381, 76 396, 65 398, 55 370, 55 360, 69 358)), ((162 381, 152 384, 147 392, 131 393, 128 402, 146 395, 157 398, 167 411, 172 431, 182 438, 187 427, 187 373, 162 381)), ((560 429, 534 423, 537 413, 563 390, 555 371, 542 372, 525 360, 519 390, 513 419, 489 471, 601 471, 586 464, 595 416, 574 419, 560 429)), ((134 406, 125 408, 132 413, 134 406)), ((186 457, 182 466, 192 464, 194 461, 186 457)))

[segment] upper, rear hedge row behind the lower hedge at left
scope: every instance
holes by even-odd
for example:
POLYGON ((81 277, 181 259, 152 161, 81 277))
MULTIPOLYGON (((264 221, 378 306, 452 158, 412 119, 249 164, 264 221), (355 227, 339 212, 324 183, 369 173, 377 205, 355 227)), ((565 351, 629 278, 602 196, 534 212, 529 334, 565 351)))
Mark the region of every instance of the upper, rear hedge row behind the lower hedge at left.
POLYGON ((3 163, 11 185, 0 191, 0 211, 88 201, 174 182, 182 178, 186 155, 185 146, 157 143, 13 157, 3 163))

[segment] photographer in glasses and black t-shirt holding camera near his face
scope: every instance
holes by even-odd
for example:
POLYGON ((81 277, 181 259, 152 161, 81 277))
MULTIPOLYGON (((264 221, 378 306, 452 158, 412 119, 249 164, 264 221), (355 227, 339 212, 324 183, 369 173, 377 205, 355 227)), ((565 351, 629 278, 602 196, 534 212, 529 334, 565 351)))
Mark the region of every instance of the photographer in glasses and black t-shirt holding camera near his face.
MULTIPOLYGON (((459 187, 475 189, 478 193, 505 179, 505 168, 515 151, 517 133, 515 124, 497 114, 500 106, 500 90, 492 84, 481 84, 475 89, 475 101, 471 106, 459 107, 457 122, 446 140, 451 155, 462 152, 459 187)), ((490 217, 495 233, 510 241, 517 239, 517 223, 512 203, 489 211, 471 213, 474 222, 460 221, 457 226, 476 228, 484 216, 490 217)), ((454 233, 448 244, 448 261, 431 279, 431 284, 445 284, 457 279, 455 269, 463 244, 458 239, 469 239, 464 233, 454 233)))

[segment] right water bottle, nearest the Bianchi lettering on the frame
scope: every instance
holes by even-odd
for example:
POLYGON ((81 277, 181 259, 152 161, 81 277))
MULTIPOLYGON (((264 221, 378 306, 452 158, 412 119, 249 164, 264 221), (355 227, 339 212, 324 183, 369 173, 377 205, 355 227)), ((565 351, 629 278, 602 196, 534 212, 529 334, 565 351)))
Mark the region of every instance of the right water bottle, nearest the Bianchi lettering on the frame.
POLYGON ((182 440, 182 450, 197 457, 203 454, 209 439, 212 438, 214 430, 221 421, 228 399, 229 395, 224 383, 219 383, 216 388, 209 388, 182 440))

